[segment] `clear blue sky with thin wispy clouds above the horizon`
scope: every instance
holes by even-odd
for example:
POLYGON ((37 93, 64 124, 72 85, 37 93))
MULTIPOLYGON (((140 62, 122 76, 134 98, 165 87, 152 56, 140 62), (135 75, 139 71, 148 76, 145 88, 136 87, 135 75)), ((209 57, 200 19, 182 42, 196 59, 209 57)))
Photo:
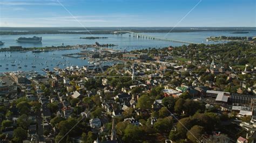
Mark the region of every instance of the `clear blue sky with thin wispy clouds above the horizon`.
POLYGON ((256 26, 255 0, 1 0, 0 26, 256 26))

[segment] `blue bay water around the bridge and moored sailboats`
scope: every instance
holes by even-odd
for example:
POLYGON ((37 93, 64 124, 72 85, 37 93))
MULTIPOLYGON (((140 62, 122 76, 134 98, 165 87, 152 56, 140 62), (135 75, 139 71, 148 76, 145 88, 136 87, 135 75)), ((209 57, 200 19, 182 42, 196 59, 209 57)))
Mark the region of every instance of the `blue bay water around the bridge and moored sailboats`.
MULTIPOLYGON (((256 36, 256 31, 250 31, 250 33, 244 34, 234 34, 231 32, 180 32, 180 33, 142 33, 146 35, 151 35, 158 38, 167 38, 173 40, 189 41, 204 44, 214 44, 217 42, 206 42, 207 37, 211 36, 237 36, 237 37, 254 37, 256 36)), ((50 46, 61 46, 64 45, 81 45, 81 44, 95 44, 98 41, 100 44, 115 44, 117 47, 112 47, 113 49, 119 49, 131 51, 134 49, 142 48, 161 48, 166 46, 180 46, 182 43, 169 42, 169 41, 158 41, 150 40, 136 37, 129 37, 129 34, 114 35, 114 34, 38 34, 36 36, 43 37, 42 44, 31 44, 31 43, 19 43, 16 39, 19 37, 33 37, 34 35, 1 35, 0 41, 5 42, 0 48, 10 47, 10 46, 22 46, 22 47, 50 47, 50 46), (80 39, 80 37, 108 37, 107 39, 80 39)), ((53 52, 42 52, 42 53, 32 53, 32 52, 0 52, 0 73, 6 71, 17 71, 17 70, 35 70, 42 73, 42 68, 53 69, 57 65, 60 68, 66 66, 84 66, 89 65, 87 60, 82 60, 78 58, 66 58, 62 54, 68 53, 78 53, 81 49, 72 49, 65 51, 53 51, 53 52), (62 58, 63 57, 63 58, 62 58), (19 64, 19 65, 18 65, 19 64), (8 65, 8 66, 6 66, 8 65), (15 66, 11 66, 15 65, 15 66), (25 65, 27 67, 25 67, 25 65), (35 66, 35 68, 32 68, 35 66), (48 66, 48 67, 46 67, 48 66), (22 67, 19 69, 18 67, 22 67), (8 69, 6 69, 8 68, 8 69)))

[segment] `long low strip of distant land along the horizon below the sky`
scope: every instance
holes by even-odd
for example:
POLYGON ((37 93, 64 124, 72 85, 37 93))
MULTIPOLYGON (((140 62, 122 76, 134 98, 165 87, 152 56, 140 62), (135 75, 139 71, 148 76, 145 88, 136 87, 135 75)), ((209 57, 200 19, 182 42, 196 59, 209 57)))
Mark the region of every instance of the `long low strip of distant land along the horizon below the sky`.
MULTIPOLYGON (((120 27, 90 27, 85 31, 83 27, 0 27, 0 35, 25 34, 114 34, 120 27)), ((176 27, 171 32, 248 32, 254 28, 237 29, 238 27, 176 27), (238 31, 239 30, 239 31, 238 31)), ((172 27, 122 27, 122 31, 134 33, 167 33, 172 27)), ((125 34, 127 32, 122 32, 125 34)))

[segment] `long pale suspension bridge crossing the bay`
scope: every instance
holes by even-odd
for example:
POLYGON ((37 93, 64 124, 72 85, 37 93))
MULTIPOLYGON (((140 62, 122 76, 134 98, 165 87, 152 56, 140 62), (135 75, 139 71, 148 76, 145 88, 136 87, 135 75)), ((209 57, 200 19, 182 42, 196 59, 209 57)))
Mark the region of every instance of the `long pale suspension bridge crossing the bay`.
POLYGON ((131 37, 131 35, 132 35, 133 37, 142 38, 142 39, 179 42, 179 43, 184 43, 184 44, 199 44, 199 43, 196 43, 196 42, 188 42, 188 41, 181 41, 181 40, 173 40, 173 39, 167 39, 167 38, 153 37, 151 35, 140 34, 140 33, 135 33, 135 32, 131 32, 131 31, 114 31, 113 33, 114 34, 121 34, 121 35, 129 33, 129 37, 131 37))

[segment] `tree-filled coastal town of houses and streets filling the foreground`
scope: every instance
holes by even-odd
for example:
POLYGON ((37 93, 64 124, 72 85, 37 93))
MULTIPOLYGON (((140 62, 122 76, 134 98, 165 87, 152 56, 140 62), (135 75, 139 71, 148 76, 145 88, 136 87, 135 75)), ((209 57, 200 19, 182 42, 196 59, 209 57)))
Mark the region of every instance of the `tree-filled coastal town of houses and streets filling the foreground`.
POLYGON ((255 142, 255 51, 255 41, 85 48, 78 58, 101 62, 1 73, 0 139, 255 142))

